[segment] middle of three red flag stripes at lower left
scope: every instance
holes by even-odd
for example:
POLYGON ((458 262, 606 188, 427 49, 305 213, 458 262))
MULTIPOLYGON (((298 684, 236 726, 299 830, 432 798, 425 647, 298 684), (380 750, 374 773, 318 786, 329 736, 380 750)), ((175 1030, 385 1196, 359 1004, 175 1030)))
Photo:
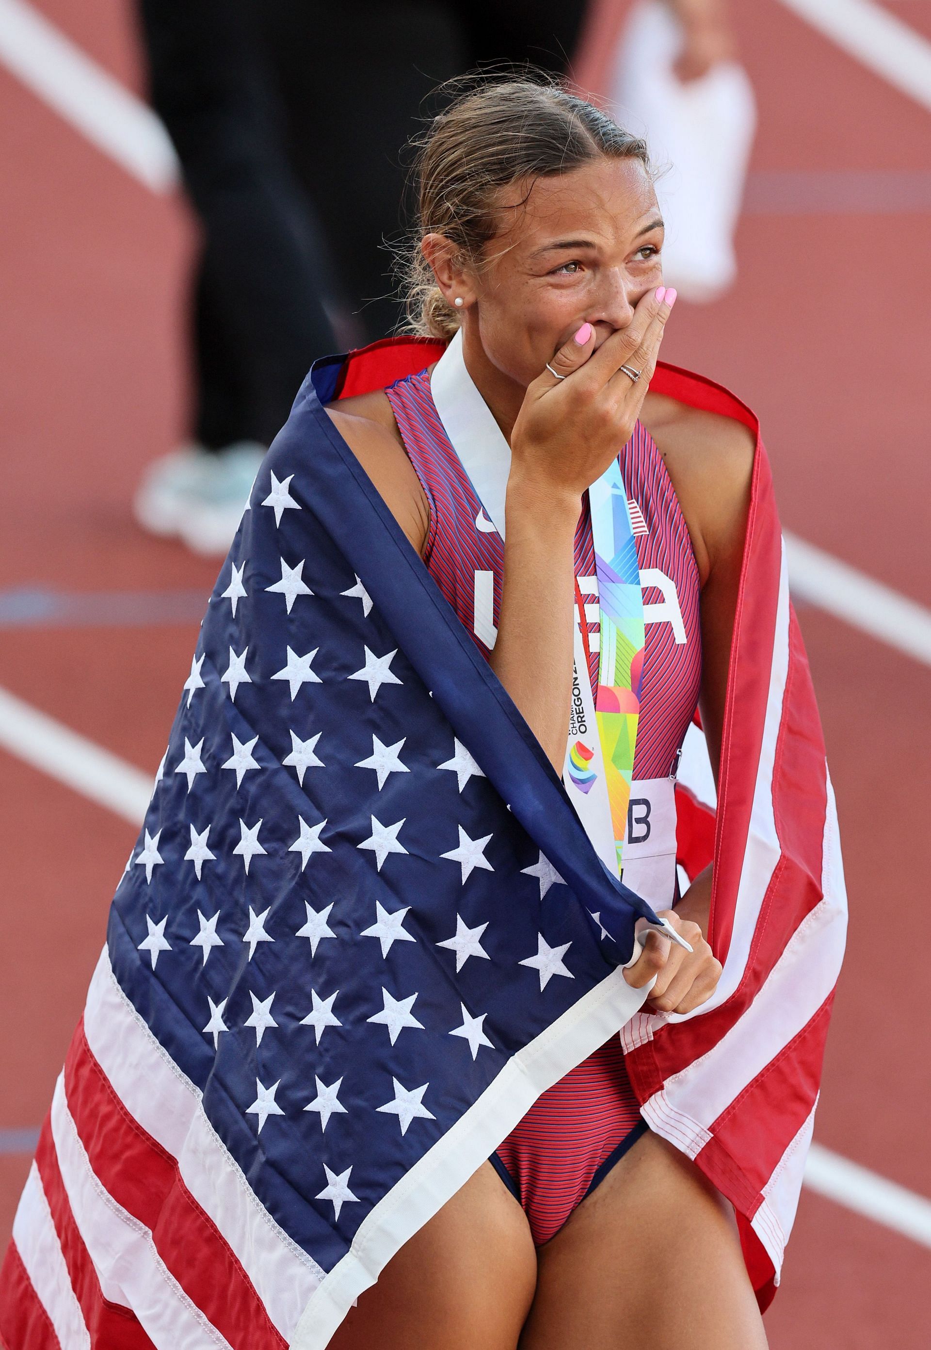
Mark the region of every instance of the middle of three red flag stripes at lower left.
POLYGON ((47 1118, 39 1135, 35 1165, 93 1350, 155 1350, 135 1314, 104 1297, 90 1253, 72 1214, 47 1118))

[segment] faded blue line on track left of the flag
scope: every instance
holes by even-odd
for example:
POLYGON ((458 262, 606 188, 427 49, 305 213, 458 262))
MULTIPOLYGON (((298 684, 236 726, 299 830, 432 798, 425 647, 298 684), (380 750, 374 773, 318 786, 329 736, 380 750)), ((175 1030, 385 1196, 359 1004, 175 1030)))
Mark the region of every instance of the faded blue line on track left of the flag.
POLYGON ((61 591, 20 586, 0 591, 0 629, 197 624, 205 608, 206 594, 201 590, 61 591))

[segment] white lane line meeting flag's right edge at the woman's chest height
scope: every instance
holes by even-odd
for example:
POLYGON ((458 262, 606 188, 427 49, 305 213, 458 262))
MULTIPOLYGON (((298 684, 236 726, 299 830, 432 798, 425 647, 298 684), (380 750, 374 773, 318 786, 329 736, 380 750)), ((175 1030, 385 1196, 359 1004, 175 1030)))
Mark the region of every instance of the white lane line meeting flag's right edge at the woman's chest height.
POLYGON ((785 552, 793 595, 931 666, 931 612, 923 605, 796 535, 785 535, 785 552))

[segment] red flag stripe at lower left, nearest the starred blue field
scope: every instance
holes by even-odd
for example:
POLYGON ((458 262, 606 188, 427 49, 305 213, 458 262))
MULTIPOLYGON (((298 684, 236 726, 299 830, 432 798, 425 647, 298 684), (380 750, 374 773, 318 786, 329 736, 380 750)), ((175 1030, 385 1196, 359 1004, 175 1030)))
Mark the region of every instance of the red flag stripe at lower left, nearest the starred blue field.
POLYGON ((175 1160, 125 1110, 94 1060, 84 1022, 65 1062, 65 1094, 103 1185, 152 1233, 162 1261, 231 1346, 285 1350, 228 1242, 181 1179, 175 1160))

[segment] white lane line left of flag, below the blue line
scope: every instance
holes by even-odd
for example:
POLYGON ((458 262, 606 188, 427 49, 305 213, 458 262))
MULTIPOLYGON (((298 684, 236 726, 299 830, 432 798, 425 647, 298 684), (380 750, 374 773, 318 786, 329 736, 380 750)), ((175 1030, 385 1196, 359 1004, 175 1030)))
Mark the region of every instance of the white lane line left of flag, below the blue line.
POLYGON ((142 824, 152 795, 150 774, 5 688, 0 688, 0 745, 136 828, 142 824))

